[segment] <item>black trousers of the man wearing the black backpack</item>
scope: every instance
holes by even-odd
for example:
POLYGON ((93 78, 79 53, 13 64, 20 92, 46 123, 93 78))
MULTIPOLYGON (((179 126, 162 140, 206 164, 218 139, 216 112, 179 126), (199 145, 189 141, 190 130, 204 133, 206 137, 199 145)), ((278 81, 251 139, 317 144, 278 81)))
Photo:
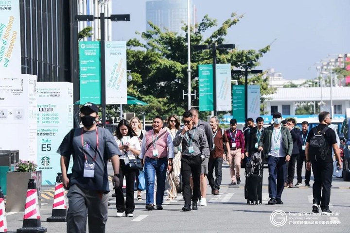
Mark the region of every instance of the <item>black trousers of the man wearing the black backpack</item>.
POLYGON ((321 209, 328 209, 331 198, 331 186, 333 176, 333 163, 324 161, 311 161, 314 184, 314 200, 321 206, 321 209), (322 191, 322 196, 321 196, 322 191))

